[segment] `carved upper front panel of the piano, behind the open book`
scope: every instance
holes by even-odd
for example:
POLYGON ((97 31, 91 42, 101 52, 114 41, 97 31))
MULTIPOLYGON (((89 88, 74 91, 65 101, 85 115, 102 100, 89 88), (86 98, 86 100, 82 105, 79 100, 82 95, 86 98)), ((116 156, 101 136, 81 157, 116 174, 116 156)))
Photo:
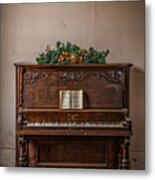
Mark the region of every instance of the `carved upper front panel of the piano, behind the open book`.
POLYGON ((122 70, 35 69, 24 73, 24 107, 59 107, 60 90, 84 91, 84 108, 123 107, 122 70))

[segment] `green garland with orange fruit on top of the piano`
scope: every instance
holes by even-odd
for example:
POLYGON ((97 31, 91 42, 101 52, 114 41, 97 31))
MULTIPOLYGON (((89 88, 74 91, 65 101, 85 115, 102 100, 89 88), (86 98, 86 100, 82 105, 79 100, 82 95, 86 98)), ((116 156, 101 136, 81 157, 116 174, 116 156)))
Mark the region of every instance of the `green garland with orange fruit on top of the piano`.
POLYGON ((109 50, 97 51, 93 47, 88 50, 76 44, 67 42, 66 45, 60 41, 54 47, 47 45, 46 52, 36 58, 38 64, 105 64, 109 50))

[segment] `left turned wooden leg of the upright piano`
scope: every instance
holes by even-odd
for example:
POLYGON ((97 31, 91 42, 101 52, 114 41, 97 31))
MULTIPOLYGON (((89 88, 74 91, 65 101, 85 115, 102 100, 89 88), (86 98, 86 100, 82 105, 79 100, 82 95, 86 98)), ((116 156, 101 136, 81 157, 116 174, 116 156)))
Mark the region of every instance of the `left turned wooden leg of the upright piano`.
POLYGON ((27 166, 27 139, 20 135, 18 137, 18 166, 26 167, 27 166))

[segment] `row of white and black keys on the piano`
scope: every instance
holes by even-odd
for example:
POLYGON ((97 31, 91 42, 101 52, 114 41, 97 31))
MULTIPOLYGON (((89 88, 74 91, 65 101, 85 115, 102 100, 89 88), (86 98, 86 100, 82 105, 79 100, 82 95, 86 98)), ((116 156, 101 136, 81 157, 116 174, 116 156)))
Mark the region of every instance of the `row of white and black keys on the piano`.
POLYGON ((29 122, 27 123, 28 127, 79 127, 79 128, 123 128, 127 126, 126 121, 120 122, 102 122, 102 123, 58 123, 58 122, 29 122))

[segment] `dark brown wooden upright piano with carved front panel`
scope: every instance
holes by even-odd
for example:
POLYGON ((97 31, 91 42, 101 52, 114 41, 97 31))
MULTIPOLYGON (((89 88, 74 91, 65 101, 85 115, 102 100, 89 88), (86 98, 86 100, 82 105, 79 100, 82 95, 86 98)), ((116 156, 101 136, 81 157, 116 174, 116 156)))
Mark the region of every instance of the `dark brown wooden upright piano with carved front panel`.
POLYGON ((129 169, 132 64, 16 66, 16 166, 129 169), (62 90, 82 109, 61 109, 62 90))

